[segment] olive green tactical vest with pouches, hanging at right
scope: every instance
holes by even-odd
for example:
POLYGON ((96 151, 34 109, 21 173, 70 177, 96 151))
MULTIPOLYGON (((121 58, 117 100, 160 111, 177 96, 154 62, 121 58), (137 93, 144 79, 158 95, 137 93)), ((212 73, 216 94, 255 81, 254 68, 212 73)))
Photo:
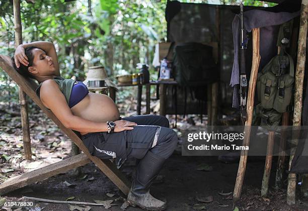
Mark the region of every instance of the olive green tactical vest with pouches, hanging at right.
POLYGON ((294 63, 285 52, 289 47, 293 20, 280 26, 277 46, 280 53, 274 56, 258 73, 257 95, 259 104, 253 115, 253 125, 260 125, 269 131, 275 131, 280 125, 282 113, 290 104, 294 85, 294 63))

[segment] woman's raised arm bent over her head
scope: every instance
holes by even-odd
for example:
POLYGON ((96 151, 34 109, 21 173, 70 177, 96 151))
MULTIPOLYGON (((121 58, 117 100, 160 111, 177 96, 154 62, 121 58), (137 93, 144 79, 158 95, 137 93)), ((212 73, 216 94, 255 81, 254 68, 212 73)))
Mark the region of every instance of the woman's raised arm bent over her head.
POLYGON ((45 51, 45 53, 52 58, 54 67, 56 69, 56 75, 60 76, 59 62, 58 62, 58 57, 57 57, 55 47, 53 43, 47 42, 47 41, 37 41, 37 42, 19 45, 16 48, 15 55, 14 55, 14 56, 17 56, 15 58, 15 65, 19 68, 19 62, 21 62, 25 66, 28 66, 29 62, 25 54, 25 49, 30 46, 34 46, 34 47, 40 48, 43 51, 45 51))

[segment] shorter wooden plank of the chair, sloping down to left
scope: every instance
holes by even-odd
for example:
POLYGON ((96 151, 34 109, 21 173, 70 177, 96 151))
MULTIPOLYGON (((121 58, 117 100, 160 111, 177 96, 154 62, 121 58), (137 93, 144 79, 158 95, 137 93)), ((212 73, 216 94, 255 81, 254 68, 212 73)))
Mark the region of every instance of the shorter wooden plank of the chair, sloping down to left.
POLYGON ((90 163, 90 159, 84 153, 64 159, 62 161, 44 166, 42 168, 24 173, 6 180, 0 185, 0 194, 4 194, 18 188, 42 181, 51 176, 67 172, 71 169, 90 163))

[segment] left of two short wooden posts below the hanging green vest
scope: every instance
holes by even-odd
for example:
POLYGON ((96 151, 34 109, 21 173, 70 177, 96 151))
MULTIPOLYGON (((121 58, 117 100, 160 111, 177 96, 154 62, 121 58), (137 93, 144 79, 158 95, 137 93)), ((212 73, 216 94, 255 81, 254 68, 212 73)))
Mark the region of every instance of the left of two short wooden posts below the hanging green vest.
POLYGON ((273 159, 274 138, 275 138, 274 131, 269 131, 267 139, 266 160, 265 160, 265 167, 262 179, 262 189, 261 189, 261 195, 263 197, 267 197, 268 194, 268 183, 271 175, 271 166, 273 159))

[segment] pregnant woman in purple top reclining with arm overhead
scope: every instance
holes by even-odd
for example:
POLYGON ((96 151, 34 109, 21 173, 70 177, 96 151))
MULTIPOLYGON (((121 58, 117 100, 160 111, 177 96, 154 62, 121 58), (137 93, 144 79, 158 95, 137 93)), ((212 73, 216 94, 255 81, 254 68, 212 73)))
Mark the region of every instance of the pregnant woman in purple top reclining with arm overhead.
POLYGON ((166 159, 177 145, 177 135, 162 116, 121 118, 114 101, 105 94, 89 93, 82 82, 60 77, 51 42, 18 46, 12 62, 22 75, 36 79, 36 93, 67 128, 79 131, 93 156, 101 159, 140 159, 127 201, 145 210, 164 210, 166 202, 149 193, 166 159))

